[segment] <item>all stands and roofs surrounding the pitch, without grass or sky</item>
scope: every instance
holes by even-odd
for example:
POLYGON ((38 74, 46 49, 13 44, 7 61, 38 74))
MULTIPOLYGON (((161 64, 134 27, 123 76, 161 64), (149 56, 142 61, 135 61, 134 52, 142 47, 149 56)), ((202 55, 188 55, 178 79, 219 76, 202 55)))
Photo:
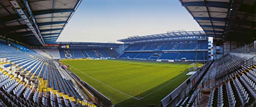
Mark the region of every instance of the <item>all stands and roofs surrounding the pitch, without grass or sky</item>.
POLYGON ((255 105, 255 1, 180 0, 203 31, 56 42, 81 2, 0 1, 1 106, 113 106, 59 59, 205 61, 159 106, 255 105))

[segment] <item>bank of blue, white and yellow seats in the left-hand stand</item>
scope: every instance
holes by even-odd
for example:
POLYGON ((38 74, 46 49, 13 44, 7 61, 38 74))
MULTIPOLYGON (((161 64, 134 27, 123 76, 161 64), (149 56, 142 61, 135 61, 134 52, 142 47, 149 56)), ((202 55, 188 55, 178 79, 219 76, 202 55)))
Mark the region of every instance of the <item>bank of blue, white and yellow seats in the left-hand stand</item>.
POLYGON ((1 99, 2 106, 74 106, 74 97, 82 98, 52 59, 33 51, 18 51, 3 42, 0 49, 0 85, 4 91, 1 91, 2 98, 5 98, 1 99))

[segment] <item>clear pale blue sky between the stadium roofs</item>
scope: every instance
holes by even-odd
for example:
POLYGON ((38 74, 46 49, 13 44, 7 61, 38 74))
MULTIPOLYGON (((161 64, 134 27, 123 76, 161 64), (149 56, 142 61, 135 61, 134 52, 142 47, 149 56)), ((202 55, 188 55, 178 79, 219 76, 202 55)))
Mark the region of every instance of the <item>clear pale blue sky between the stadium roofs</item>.
POLYGON ((83 0, 57 41, 117 42, 180 29, 202 30, 178 0, 83 0))

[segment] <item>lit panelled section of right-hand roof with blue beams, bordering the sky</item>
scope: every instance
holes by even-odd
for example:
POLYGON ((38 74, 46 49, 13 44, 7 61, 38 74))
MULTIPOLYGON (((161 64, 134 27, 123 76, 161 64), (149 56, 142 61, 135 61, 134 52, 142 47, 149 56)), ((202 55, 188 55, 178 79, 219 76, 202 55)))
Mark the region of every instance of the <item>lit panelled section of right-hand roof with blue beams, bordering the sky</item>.
POLYGON ((180 0, 205 33, 223 37, 229 0, 180 0))

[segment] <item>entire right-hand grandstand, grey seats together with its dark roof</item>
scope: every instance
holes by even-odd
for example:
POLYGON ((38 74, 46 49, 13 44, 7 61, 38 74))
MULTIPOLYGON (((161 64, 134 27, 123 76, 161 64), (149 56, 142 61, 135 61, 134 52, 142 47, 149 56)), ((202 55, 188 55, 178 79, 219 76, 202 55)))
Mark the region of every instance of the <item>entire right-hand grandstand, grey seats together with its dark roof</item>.
POLYGON ((214 37, 214 60, 208 70, 197 71, 204 75, 187 80, 196 82, 182 83, 161 106, 255 106, 255 20, 250 19, 255 1, 180 2, 214 37))

